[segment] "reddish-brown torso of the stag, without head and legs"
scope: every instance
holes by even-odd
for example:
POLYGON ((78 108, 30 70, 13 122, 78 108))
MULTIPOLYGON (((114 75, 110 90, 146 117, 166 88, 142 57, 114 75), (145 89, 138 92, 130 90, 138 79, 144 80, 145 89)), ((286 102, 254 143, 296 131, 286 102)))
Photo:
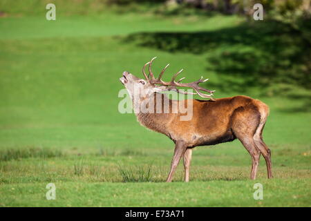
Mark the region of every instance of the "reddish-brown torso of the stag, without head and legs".
MULTIPOLYGON (((169 98, 164 96, 164 99, 169 98)), ((187 102, 187 99, 171 102, 187 102)), ((216 102, 194 99, 192 102, 194 116, 189 121, 180 121, 182 113, 138 113, 138 122, 167 135, 173 142, 182 140, 189 147, 195 147, 230 142, 236 139, 234 130, 237 127, 252 128, 249 124, 253 122, 249 119, 243 122, 245 117, 240 117, 239 113, 248 113, 248 117, 254 118, 254 124, 258 126, 261 112, 263 115, 269 112, 263 102, 245 96, 226 97, 216 102)))

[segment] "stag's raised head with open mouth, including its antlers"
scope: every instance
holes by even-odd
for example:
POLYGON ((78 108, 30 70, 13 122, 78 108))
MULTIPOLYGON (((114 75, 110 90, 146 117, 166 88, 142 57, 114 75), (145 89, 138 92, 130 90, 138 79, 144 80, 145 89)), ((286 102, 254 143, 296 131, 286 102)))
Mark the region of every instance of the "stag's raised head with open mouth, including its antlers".
POLYGON ((183 69, 178 71, 178 73, 176 73, 175 75, 173 75, 171 81, 165 82, 162 81, 161 78, 164 71, 169 66, 169 64, 167 64, 167 66, 165 66, 161 71, 159 77, 156 79, 151 70, 152 62, 154 59, 156 59, 156 57, 153 57, 151 61, 147 62, 147 64, 144 64, 142 68, 142 74, 144 75, 145 79, 138 78, 135 75, 129 73, 128 71, 124 71, 123 77, 120 78, 120 81, 122 82, 122 84, 124 84, 125 88, 128 90, 131 99, 133 99, 135 93, 139 93, 141 99, 145 99, 147 97, 151 97, 151 95, 153 95, 154 93, 173 90, 176 91, 177 93, 182 93, 186 95, 187 94, 200 95, 200 97, 209 98, 214 101, 214 99, 211 96, 213 96, 215 90, 208 90, 198 86, 198 84, 205 82, 208 79, 203 79, 203 77, 201 77, 200 79, 198 79, 198 81, 194 81, 191 83, 180 83, 183 79, 185 79, 185 77, 182 77, 178 81, 175 81, 176 77, 182 72, 183 69), (145 69, 148 65, 149 65, 149 75, 147 76, 145 69), (192 88, 196 91, 196 93, 184 92, 183 90, 179 90, 177 87, 192 88), (201 91, 205 91, 209 94, 202 93, 201 91))

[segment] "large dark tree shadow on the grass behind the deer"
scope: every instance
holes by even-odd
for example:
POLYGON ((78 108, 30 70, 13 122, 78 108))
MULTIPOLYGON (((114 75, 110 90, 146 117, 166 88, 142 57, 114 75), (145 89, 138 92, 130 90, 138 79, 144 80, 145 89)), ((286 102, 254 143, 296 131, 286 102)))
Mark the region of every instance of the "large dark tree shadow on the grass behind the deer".
MULTIPOLYGON (((219 82, 209 82, 209 88, 225 93, 257 88, 260 95, 290 97, 296 88, 311 90, 310 30, 307 21, 299 28, 261 21, 214 31, 139 32, 123 41, 167 52, 206 55, 207 70, 217 73, 219 82)), ((309 104, 299 110, 309 111, 309 104)))

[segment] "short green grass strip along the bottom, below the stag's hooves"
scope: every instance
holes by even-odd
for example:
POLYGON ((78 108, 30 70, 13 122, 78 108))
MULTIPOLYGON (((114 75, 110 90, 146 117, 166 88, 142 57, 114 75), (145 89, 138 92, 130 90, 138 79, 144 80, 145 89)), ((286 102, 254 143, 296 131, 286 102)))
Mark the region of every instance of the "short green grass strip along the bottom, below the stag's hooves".
POLYGON ((256 182, 187 183, 57 182, 56 200, 44 200, 44 184, 3 186, 2 206, 306 206, 308 181, 259 180, 263 200, 254 200, 256 182), (12 195, 15 197, 12 198, 12 195), (31 200, 30 200, 31 199, 31 200))

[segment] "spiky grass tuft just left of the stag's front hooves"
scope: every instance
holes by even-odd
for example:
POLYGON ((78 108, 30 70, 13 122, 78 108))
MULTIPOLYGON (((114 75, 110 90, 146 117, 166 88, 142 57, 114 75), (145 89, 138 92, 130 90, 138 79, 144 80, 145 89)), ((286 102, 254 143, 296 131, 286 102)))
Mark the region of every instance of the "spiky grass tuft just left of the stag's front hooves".
POLYGON ((119 173, 122 176, 122 182, 152 182, 151 165, 144 166, 119 166, 119 173))

